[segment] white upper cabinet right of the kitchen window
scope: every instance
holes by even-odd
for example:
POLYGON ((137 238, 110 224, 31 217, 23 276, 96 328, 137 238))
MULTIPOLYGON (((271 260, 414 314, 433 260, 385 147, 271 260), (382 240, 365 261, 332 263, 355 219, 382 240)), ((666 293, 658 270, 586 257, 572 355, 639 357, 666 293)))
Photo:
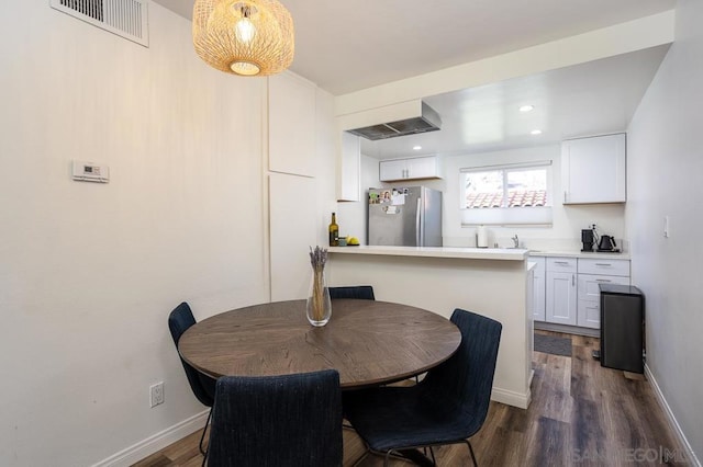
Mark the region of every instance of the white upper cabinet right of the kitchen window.
POLYGON ((624 133, 563 141, 563 204, 625 203, 625 151, 624 133))

